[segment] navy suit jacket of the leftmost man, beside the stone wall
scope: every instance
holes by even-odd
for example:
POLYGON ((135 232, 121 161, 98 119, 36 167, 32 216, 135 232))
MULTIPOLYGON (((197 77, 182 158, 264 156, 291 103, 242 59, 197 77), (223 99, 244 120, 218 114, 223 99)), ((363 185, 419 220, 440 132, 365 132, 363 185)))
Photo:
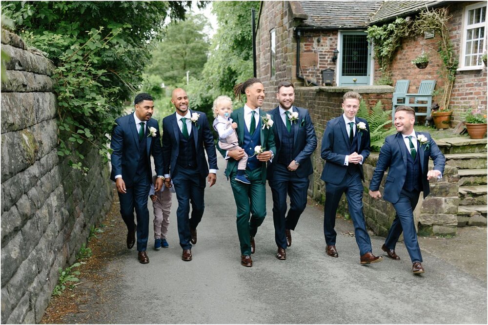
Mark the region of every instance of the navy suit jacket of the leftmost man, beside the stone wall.
MULTIPOLYGON (((134 120, 134 112, 130 115, 119 117, 110 141, 112 172, 110 179, 115 181, 116 175, 122 175, 126 186, 132 186, 139 163, 139 133, 134 120)), ((154 157, 155 171, 157 175, 163 175, 163 153, 161 150, 161 140, 158 121, 151 118, 146 122, 146 130, 153 127, 156 129, 156 136, 146 136, 147 169, 151 170, 150 155, 154 157)), ((148 132, 146 131, 146 134, 148 132)), ((152 175, 151 175, 152 176, 152 175)))

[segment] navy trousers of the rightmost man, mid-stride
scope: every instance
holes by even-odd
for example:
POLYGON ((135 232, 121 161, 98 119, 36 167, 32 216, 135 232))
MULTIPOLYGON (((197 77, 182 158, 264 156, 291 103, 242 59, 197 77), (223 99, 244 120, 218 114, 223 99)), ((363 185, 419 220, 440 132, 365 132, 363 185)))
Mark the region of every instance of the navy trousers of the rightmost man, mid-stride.
POLYGON ((419 242, 417 240, 417 232, 415 231, 415 224, 413 221, 413 210, 419 202, 419 191, 405 191, 400 192, 400 199, 393 204, 396 216, 391 224, 386 236, 385 246, 387 249, 395 249, 398 238, 402 234, 407 247, 408 254, 412 263, 422 262, 422 254, 420 253, 419 242))

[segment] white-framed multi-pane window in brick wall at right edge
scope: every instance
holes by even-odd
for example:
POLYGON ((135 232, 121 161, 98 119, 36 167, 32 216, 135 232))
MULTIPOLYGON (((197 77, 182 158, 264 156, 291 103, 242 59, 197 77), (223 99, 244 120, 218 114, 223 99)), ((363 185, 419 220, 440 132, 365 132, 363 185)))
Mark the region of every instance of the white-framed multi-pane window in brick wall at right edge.
POLYGON ((463 47, 461 51, 461 68, 482 68, 481 56, 486 51, 486 2, 466 6, 463 24, 463 47))

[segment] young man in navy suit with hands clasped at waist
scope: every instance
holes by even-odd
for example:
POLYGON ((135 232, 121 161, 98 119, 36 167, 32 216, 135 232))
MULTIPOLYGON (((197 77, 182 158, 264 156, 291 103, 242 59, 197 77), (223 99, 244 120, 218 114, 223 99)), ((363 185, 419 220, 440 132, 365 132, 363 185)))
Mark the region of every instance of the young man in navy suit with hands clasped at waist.
POLYGON ((320 156, 325 159, 321 179, 325 182, 324 235, 326 253, 338 257, 337 233, 334 230, 336 211, 343 193, 346 193, 349 214, 354 224, 360 263, 381 262, 381 256, 371 252, 371 240, 363 214, 363 163, 369 156, 369 125, 356 117, 361 95, 347 92, 343 96, 344 114, 333 118, 325 126, 320 156))

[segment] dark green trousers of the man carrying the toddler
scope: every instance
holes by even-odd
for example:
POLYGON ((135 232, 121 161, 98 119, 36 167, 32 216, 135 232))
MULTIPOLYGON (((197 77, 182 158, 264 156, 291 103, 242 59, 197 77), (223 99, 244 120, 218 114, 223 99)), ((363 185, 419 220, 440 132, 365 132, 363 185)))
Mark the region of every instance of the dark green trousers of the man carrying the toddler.
POLYGON ((237 234, 241 243, 241 254, 251 255, 251 240, 266 216, 266 183, 261 176, 261 168, 246 169, 251 184, 236 181, 237 172, 230 174, 230 186, 234 192, 237 207, 237 234))

